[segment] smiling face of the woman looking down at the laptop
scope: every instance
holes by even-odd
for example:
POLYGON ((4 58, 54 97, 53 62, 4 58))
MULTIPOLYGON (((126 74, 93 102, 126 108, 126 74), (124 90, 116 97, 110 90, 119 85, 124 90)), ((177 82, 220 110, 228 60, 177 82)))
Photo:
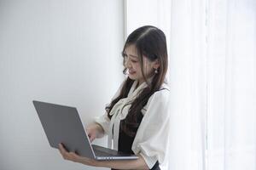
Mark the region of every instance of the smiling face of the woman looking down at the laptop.
POLYGON ((139 55, 137 54, 137 48, 131 44, 125 48, 125 67, 127 68, 128 75, 132 80, 137 80, 139 84, 145 82, 143 78, 143 72, 146 78, 154 75, 154 70, 159 67, 157 61, 150 61, 148 58, 143 56, 143 72, 139 55))

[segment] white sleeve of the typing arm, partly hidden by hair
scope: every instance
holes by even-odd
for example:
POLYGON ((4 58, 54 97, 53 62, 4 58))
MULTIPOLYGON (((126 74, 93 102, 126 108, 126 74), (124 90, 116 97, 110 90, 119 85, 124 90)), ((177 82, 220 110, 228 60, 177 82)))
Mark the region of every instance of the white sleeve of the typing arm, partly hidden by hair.
MULTIPOLYGON (((125 83, 125 81, 121 83, 121 85, 119 86, 119 89, 113 95, 113 98, 111 99, 111 101, 119 96, 124 83, 125 83)), ((102 115, 102 116, 96 116, 94 119, 94 122, 96 122, 102 126, 102 128, 104 130, 104 134, 108 134, 110 119, 108 118, 107 111, 105 111, 104 115, 102 115)))

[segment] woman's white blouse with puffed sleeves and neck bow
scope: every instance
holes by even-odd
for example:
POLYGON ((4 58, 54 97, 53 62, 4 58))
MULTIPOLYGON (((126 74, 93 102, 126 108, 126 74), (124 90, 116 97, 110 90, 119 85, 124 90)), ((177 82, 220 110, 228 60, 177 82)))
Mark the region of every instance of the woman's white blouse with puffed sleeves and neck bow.
MULTIPOLYGON (((113 99, 119 96, 118 92, 113 99)), ((110 112, 111 120, 106 112, 103 116, 96 117, 95 122, 99 123, 106 134, 108 134, 108 147, 118 150, 119 141, 119 124, 125 119, 131 107, 126 105, 131 103, 137 95, 142 92, 143 88, 148 85, 143 82, 137 87, 137 81, 133 82, 131 90, 125 99, 120 99, 110 112), (137 88, 136 88, 137 87, 137 88), (113 132, 113 133, 112 133, 113 132)), ((161 87, 160 91, 155 92, 148 99, 147 105, 143 107, 143 120, 137 129, 137 134, 131 146, 131 150, 137 155, 143 156, 149 168, 152 168, 156 161, 163 163, 166 159, 166 149, 168 148, 169 137, 169 101, 170 91, 166 83, 161 87)))

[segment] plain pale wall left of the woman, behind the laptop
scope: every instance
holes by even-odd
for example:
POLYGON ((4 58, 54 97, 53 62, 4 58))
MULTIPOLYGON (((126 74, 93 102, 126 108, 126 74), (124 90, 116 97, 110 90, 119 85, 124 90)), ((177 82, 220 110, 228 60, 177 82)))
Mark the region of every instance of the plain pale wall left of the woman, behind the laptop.
POLYGON ((1 170, 96 169, 49 147, 32 99, 102 115, 123 78, 123 18, 120 0, 0 0, 1 170))

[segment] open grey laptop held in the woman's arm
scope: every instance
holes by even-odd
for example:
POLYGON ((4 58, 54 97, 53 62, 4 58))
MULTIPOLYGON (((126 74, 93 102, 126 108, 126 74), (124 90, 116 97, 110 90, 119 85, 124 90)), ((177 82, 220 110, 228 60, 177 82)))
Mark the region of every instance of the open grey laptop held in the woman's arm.
POLYGON ((133 160, 138 156, 111 150, 96 144, 90 144, 90 139, 84 130, 84 125, 75 107, 55 105, 33 100, 44 128, 49 145, 58 149, 58 144, 64 144, 68 151, 79 156, 96 160, 133 160))

